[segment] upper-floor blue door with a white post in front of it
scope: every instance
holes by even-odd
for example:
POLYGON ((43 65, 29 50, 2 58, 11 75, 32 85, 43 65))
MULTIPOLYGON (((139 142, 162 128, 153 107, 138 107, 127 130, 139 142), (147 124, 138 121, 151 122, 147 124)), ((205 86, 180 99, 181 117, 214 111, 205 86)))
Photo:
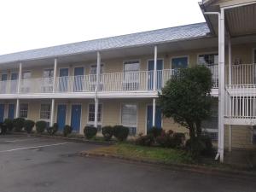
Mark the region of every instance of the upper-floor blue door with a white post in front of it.
MULTIPOLYGON (((163 60, 157 60, 156 70, 163 70, 163 60)), ((156 75, 156 89, 160 90, 162 86, 162 72, 158 71, 156 75)), ((148 90, 154 88, 154 60, 148 61, 148 90)))

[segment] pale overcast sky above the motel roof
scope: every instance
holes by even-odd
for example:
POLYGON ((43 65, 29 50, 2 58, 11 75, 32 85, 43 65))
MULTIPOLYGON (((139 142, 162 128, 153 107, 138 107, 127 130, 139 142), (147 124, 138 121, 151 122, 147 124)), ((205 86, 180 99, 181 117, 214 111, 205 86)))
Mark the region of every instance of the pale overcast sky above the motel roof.
POLYGON ((0 0, 0 55, 205 21, 200 0, 0 0))

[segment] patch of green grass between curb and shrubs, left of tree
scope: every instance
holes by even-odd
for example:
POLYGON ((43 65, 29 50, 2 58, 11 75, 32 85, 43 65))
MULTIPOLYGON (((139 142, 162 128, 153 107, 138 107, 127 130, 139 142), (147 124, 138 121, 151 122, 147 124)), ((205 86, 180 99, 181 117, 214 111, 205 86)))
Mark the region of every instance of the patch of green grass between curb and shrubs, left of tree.
POLYGON ((194 160, 183 150, 173 148, 143 147, 129 143, 116 143, 112 146, 96 148, 90 152, 113 154, 136 160, 154 160, 164 163, 193 163, 194 160))

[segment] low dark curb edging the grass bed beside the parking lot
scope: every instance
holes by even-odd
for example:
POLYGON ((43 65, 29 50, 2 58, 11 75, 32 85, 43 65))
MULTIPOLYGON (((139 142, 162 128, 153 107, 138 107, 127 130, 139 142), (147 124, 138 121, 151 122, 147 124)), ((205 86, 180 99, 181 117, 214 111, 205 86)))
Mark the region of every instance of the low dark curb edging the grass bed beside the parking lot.
POLYGON ((90 152, 80 152, 79 156, 83 157, 105 157, 117 160, 126 160, 131 163, 143 163, 155 166, 166 166, 168 168, 172 168, 177 171, 189 171, 189 172, 198 172, 198 173, 205 173, 205 174, 212 174, 212 175, 222 175, 228 177, 240 177, 240 178, 249 178, 255 179, 256 173, 253 172, 246 172, 246 171, 235 171, 235 170, 227 170, 221 168, 211 168, 206 166, 197 166, 197 165, 189 165, 189 164, 176 164, 176 163, 166 163, 161 161, 154 161, 154 160, 137 160, 129 157, 123 157, 115 154, 96 154, 90 152))

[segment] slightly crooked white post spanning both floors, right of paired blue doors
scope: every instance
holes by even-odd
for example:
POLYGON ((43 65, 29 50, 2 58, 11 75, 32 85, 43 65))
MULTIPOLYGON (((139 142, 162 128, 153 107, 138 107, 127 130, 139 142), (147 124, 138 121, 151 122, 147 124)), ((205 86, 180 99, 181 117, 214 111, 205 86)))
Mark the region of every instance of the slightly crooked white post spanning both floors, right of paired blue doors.
POLYGON ((97 52, 97 68, 96 68, 96 88, 95 88, 95 113, 94 113, 94 126, 97 128, 98 126, 98 86, 100 81, 100 73, 101 73, 101 54, 97 52))

